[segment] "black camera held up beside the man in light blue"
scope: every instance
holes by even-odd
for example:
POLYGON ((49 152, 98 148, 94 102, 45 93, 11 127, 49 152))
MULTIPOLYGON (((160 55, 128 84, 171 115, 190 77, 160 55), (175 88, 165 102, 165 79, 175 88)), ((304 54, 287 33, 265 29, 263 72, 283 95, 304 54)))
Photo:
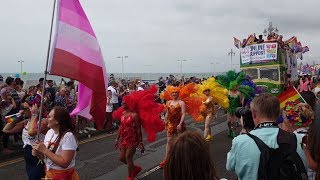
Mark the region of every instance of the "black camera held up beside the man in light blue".
POLYGON ((238 118, 242 117, 242 126, 244 129, 246 129, 247 131, 251 131, 252 129, 254 129, 255 126, 252 118, 252 112, 249 108, 237 107, 235 115, 238 118))

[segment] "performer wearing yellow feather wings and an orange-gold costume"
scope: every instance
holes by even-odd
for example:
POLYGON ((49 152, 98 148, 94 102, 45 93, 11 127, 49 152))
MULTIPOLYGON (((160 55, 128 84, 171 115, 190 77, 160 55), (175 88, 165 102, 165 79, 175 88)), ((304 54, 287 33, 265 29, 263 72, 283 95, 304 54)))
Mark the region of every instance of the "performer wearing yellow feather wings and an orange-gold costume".
POLYGON ((200 106, 199 120, 205 120, 204 138, 206 141, 212 141, 210 123, 215 113, 215 104, 217 103, 223 108, 229 107, 228 90, 221 87, 213 77, 198 84, 197 88, 198 94, 203 100, 200 106))

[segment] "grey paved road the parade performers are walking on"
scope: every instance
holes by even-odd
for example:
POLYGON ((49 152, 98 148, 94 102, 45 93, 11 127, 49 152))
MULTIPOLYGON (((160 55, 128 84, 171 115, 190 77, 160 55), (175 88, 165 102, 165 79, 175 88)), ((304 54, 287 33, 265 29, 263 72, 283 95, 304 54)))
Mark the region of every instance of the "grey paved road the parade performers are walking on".
MULTIPOLYGON (((203 124, 187 120, 188 129, 202 133, 203 124)), ((233 173, 225 170, 226 153, 231 146, 231 140, 226 136, 225 115, 212 123, 214 140, 210 145, 210 152, 213 155, 216 171, 220 177, 235 179, 233 173)), ((76 168, 81 179, 96 180, 122 180, 127 175, 127 168, 118 160, 118 151, 113 148, 115 134, 102 134, 88 138, 80 142, 80 150, 77 152, 76 168)), ((165 151, 165 133, 158 136, 156 142, 145 143, 146 152, 135 155, 135 163, 143 167, 143 172, 137 179, 160 180, 163 179, 162 170, 155 168, 162 160, 165 151), (150 171, 151 170, 151 171, 150 171)), ((0 163, 1 179, 16 180, 27 179, 25 164, 22 158, 10 162, 0 163)))

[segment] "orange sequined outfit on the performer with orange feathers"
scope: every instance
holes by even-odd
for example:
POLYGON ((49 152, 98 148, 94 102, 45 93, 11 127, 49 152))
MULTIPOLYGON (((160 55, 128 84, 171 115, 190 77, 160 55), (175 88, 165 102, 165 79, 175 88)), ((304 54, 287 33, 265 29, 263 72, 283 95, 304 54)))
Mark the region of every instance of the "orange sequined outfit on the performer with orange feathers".
MULTIPOLYGON (((167 105, 167 109, 168 109, 168 115, 167 115, 167 121, 166 121, 166 130, 168 132, 169 136, 173 136, 173 135, 177 135, 178 134, 178 130, 177 130, 177 126, 180 123, 181 120, 181 106, 179 103, 177 103, 176 105, 167 105)), ((183 124, 181 125, 181 131, 180 133, 184 132, 186 130, 186 125, 183 122, 183 124)))

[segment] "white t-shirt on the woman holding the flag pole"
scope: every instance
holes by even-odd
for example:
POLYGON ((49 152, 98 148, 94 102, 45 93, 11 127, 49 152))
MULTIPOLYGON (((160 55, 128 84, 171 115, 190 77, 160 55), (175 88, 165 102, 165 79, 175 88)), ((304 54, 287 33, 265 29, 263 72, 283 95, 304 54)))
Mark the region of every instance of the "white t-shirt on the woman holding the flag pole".
MULTIPOLYGON (((47 132, 46 137, 44 138, 44 144, 46 145, 46 147, 48 148, 50 143, 54 143, 55 141, 57 141, 58 140, 57 137, 58 137, 58 134, 55 134, 53 129, 50 129, 47 132)), ((61 139, 59 146, 57 148, 56 154, 61 155, 62 150, 76 151, 77 148, 78 148, 78 144, 77 144, 76 138, 74 137, 74 135, 71 132, 67 132, 63 136, 63 138, 61 139)), ((45 159, 45 163, 46 163, 47 170, 49 170, 49 169, 57 169, 57 170, 70 169, 70 168, 74 167, 76 164, 76 153, 74 153, 74 156, 71 160, 71 163, 67 168, 62 168, 62 167, 56 165, 49 158, 45 159)))

